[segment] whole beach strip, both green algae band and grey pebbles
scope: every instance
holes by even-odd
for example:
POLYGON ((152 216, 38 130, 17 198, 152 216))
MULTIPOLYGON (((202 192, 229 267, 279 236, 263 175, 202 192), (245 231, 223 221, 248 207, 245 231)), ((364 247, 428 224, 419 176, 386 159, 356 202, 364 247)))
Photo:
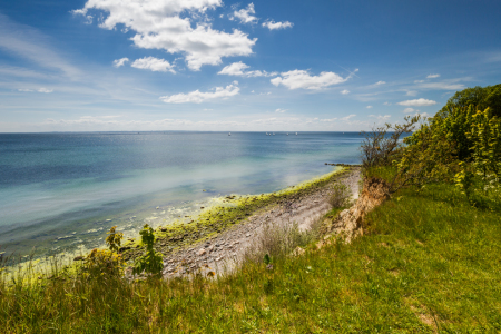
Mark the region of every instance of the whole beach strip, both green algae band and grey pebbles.
MULTIPOLYGON (((230 204, 227 207, 209 208, 189 224, 160 227, 156 230, 155 248, 164 256, 163 273, 166 277, 178 277, 194 272, 220 275, 232 271, 264 224, 297 222, 299 229, 308 229, 331 209, 327 202, 333 183, 345 184, 356 199, 358 180, 358 167, 342 167, 281 191, 227 196, 225 199, 230 204)), ((129 239, 120 248, 126 261, 143 254, 137 242, 129 239)), ((131 277, 130 268, 128 276, 131 277)))

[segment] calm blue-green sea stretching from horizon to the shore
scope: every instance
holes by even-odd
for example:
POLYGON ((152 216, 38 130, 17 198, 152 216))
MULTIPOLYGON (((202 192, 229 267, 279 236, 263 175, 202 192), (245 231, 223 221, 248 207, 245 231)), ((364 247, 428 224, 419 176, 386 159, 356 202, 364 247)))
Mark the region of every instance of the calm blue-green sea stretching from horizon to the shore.
POLYGON ((228 194, 262 194, 358 164, 354 132, 0 134, 0 252, 102 244, 228 194))

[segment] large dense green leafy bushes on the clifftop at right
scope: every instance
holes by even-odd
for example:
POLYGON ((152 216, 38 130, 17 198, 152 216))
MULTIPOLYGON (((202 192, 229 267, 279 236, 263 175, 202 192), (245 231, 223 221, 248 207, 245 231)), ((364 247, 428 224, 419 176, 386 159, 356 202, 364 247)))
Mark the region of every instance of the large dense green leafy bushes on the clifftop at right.
POLYGON ((448 106, 404 139, 405 149, 394 161, 397 169, 392 188, 451 181, 468 197, 480 195, 480 189, 499 188, 501 122, 493 109, 477 109, 488 104, 501 106, 501 85, 456 92, 448 106), (473 185, 478 187, 474 191, 473 185))

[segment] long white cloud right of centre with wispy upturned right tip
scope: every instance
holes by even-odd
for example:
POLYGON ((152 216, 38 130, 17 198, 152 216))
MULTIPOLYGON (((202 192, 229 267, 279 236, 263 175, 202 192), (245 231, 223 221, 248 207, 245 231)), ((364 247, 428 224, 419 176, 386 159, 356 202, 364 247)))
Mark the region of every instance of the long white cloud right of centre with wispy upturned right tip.
MULTIPOLYGON (((357 70, 355 70, 356 72, 357 70)), ((282 77, 272 79, 271 82, 275 86, 281 84, 288 89, 314 89, 318 90, 328 86, 337 85, 347 81, 352 75, 343 78, 334 72, 322 72, 320 76, 311 76, 305 70, 293 70, 281 73, 282 77)))

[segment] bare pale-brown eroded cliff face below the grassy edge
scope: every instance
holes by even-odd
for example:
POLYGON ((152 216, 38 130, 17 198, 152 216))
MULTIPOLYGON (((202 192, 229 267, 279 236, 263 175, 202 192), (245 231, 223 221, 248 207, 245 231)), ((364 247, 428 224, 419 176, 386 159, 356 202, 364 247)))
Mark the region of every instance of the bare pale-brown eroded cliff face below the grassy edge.
POLYGON ((389 197, 389 186, 384 180, 365 179, 362 194, 355 205, 341 212, 336 218, 326 224, 326 238, 338 236, 346 243, 351 243, 355 237, 363 235, 364 217, 389 197))

